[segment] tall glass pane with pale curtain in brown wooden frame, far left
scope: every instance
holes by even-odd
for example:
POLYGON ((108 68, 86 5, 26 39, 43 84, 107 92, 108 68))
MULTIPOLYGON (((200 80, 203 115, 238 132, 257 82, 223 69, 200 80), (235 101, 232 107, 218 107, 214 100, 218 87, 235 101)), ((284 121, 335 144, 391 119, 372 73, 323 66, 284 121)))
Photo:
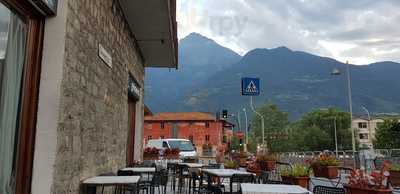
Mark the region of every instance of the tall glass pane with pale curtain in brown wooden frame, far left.
POLYGON ((27 26, 0 3, 0 193, 15 193, 27 26))

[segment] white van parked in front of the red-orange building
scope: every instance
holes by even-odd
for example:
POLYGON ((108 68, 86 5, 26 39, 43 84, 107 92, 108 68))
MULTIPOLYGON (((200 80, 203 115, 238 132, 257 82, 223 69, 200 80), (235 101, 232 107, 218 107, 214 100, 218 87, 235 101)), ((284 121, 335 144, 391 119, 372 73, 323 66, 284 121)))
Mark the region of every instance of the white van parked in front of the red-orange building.
POLYGON ((179 148, 181 159, 198 159, 197 152, 191 141, 187 139, 151 139, 146 147, 156 147, 158 149, 179 148))

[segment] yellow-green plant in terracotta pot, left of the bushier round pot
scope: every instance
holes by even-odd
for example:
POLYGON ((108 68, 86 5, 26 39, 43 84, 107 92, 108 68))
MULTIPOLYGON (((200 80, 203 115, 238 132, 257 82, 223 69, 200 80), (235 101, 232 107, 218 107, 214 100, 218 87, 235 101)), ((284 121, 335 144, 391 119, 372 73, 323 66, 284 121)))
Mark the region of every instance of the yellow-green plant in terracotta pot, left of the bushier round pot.
POLYGON ((282 172, 282 181, 308 188, 310 169, 307 166, 296 164, 291 169, 282 172))

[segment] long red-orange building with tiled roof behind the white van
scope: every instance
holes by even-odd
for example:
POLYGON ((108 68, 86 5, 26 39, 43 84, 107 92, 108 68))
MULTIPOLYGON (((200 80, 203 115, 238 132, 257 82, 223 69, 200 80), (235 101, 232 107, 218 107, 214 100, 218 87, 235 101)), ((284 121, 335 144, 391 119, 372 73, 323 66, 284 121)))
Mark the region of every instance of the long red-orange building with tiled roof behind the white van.
POLYGON ((223 157, 233 125, 203 112, 165 112, 144 118, 145 143, 149 139, 188 139, 200 156, 223 157))

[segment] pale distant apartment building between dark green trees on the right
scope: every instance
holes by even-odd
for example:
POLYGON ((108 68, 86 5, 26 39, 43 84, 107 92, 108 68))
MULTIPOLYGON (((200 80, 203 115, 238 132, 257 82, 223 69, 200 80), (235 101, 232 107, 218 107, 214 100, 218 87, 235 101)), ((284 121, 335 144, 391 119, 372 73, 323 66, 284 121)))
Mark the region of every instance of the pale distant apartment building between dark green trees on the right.
POLYGON ((384 121, 383 118, 355 118, 352 121, 351 127, 355 129, 356 138, 360 143, 360 147, 368 146, 372 147, 375 139, 376 129, 379 123, 384 121))

